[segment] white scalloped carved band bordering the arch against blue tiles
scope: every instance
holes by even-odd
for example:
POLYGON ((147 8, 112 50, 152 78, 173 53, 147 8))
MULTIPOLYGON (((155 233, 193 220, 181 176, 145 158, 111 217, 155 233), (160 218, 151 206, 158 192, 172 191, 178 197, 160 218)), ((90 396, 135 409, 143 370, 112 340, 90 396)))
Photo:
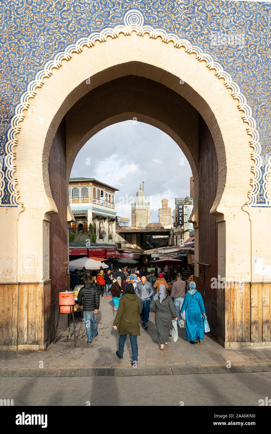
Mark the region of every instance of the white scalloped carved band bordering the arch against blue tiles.
MULTIPOLYGON (((130 20, 125 20, 125 22, 130 22, 130 20)), ((138 20, 137 20, 138 22, 138 20)), ((13 148, 14 145, 17 145, 16 134, 20 131, 19 123, 23 120, 24 115, 23 111, 28 109, 29 107, 29 99, 33 98, 36 95, 36 89, 40 88, 44 84, 44 78, 49 78, 53 74, 53 68, 59 69, 62 66, 63 60, 69 60, 72 58, 73 53, 81 53, 84 46, 92 47, 94 46, 96 41, 105 42, 108 36, 112 38, 117 38, 120 33, 128 36, 131 35, 132 31, 136 31, 137 35, 144 36, 148 34, 150 38, 161 37, 164 43, 173 42, 176 48, 184 47, 186 53, 195 53, 198 61, 207 62, 208 69, 215 69, 215 75, 218 79, 224 79, 225 86, 227 89, 231 89, 231 96, 234 99, 238 99, 238 109, 244 114, 242 115, 243 121, 248 124, 247 132, 248 135, 251 136, 249 141, 251 147, 254 149, 251 153, 251 159, 254 160, 254 165, 252 165, 251 171, 254 174, 254 178, 251 178, 251 191, 248 193, 249 201, 248 205, 251 206, 270 206, 268 200, 268 192, 267 192, 267 177, 268 170, 271 165, 271 156, 269 156, 268 164, 265 165, 264 173, 262 174, 262 158, 261 158, 261 144, 259 142, 259 133, 256 128, 256 121, 252 116, 251 107, 248 105, 245 95, 240 92, 240 88, 237 83, 232 81, 231 76, 228 72, 225 72, 220 63, 215 62, 212 56, 208 53, 202 51, 199 46, 192 45, 188 39, 182 39, 175 33, 167 33, 162 28, 153 28, 149 25, 141 26, 138 23, 129 23, 129 25, 122 25, 116 27, 107 27, 101 32, 93 32, 87 37, 79 38, 76 43, 70 44, 66 47, 65 51, 62 51, 54 57, 53 60, 47 62, 44 66, 44 69, 37 72, 35 79, 32 80, 28 86, 27 91, 23 93, 20 103, 17 104, 15 108, 15 114, 11 121, 11 127, 8 131, 8 140, 6 143, 6 152, 10 158, 15 156, 13 148), (257 194, 261 189, 260 181, 262 182, 263 189, 263 197, 265 200, 265 204, 257 204, 257 194)), ((1 171, 1 170, 0 170, 1 171)), ((8 182, 8 190, 10 192, 10 205, 16 206, 18 205, 18 192, 15 190, 15 185, 17 184, 17 179, 14 177, 14 169, 9 169, 7 171, 6 177, 8 182)), ((3 174, 2 174, 3 177, 3 174)), ((1 174, 0 174, 1 178, 1 174)), ((0 199, 3 194, 3 184, 0 190, 0 199)), ((7 205, 5 205, 7 206, 7 205)))

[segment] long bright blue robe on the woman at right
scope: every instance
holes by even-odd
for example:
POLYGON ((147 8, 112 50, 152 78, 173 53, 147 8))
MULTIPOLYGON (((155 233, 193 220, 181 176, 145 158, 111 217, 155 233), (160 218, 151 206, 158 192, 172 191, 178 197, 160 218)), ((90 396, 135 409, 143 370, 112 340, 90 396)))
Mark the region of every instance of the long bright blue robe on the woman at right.
POLYGON ((205 307, 202 300, 202 294, 198 291, 191 295, 185 294, 182 303, 181 313, 185 310, 185 333, 188 341, 196 341, 197 338, 203 340, 204 326, 202 314, 205 313, 205 307))

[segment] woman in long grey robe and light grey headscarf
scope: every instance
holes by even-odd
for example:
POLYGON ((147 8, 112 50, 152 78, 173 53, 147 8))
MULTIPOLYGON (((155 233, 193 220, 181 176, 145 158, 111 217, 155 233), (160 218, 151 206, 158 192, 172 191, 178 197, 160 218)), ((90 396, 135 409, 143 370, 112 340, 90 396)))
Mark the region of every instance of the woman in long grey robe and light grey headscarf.
POLYGON ((173 301, 166 293, 165 285, 159 286, 159 292, 153 297, 150 309, 152 309, 152 312, 155 312, 158 342, 160 343, 160 350, 163 350, 164 344, 168 344, 172 319, 177 319, 173 301))

